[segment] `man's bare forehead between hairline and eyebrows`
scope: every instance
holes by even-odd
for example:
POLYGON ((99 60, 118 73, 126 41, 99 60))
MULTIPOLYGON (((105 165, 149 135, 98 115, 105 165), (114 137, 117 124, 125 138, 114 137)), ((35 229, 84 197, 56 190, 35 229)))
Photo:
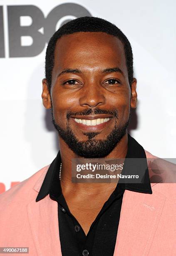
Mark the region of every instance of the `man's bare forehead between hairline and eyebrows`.
POLYGON ((64 35, 55 47, 53 72, 66 68, 126 70, 124 46, 116 36, 104 32, 79 32, 64 35))

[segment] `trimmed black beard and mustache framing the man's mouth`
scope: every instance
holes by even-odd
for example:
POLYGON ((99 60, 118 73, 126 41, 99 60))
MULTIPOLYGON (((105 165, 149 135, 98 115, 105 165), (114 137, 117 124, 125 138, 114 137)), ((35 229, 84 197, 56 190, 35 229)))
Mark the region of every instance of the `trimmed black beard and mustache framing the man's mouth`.
POLYGON ((52 113, 52 123, 57 130, 59 136, 67 143, 69 148, 78 156, 84 158, 102 158, 107 155, 117 146, 121 138, 125 135, 126 129, 129 126, 130 122, 130 114, 128 121, 121 126, 118 126, 118 111, 108 111, 101 109, 88 109, 83 110, 82 112, 72 112, 69 111, 67 113, 67 128, 64 130, 61 128, 54 119, 53 109, 51 108, 52 113), (72 129, 70 128, 69 119, 71 115, 93 115, 93 114, 111 114, 115 117, 115 125, 112 131, 107 135, 107 138, 104 139, 96 139, 94 138, 100 132, 83 132, 84 135, 87 136, 87 141, 79 141, 77 137, 74 135, 72 129))

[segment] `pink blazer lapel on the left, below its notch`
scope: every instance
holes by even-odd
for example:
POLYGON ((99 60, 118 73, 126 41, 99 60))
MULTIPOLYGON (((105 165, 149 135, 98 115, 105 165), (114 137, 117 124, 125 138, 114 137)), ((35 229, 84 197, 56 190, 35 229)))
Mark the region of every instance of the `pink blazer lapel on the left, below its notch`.
POLYGON ((37 254, 61 256, 57 202, 47 195, 39 202, 30 202, 27 211, 37 254))

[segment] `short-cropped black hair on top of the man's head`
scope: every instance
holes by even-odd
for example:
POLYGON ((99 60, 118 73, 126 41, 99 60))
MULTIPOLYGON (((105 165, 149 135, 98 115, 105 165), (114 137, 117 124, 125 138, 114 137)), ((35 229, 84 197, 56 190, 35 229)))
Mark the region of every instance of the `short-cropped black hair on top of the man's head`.
POLYGON ((48 90, 50 92, 52 82, 52 69, 54 67, 55 47, 57 40, 63 35, 78 33, 78 32, 104 32, 112 36, 116 36, 124 45, 126 67, 128 71, 128 79, 131 87, 133 81, 133 53, 131 44, 124 33, 117 26, 107 20, 96 17, 81 17, 71 20, 61 26, 50 38, 47 46, 45 57, 45 77, 47 80, 48 90))

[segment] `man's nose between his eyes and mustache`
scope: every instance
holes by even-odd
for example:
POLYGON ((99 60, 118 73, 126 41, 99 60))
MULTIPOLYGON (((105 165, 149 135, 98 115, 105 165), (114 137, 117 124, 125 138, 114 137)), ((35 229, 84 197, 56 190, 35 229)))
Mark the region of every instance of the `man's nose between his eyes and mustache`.
POLYGON ((102 88, 100 88, 98 84, 86 86, 86 88, 81 91, 82 92, 81 97, 79 98, 79 104, 83 107, 89 106, 94 108, 97 105, 104 105, 106 102, 102 88))

